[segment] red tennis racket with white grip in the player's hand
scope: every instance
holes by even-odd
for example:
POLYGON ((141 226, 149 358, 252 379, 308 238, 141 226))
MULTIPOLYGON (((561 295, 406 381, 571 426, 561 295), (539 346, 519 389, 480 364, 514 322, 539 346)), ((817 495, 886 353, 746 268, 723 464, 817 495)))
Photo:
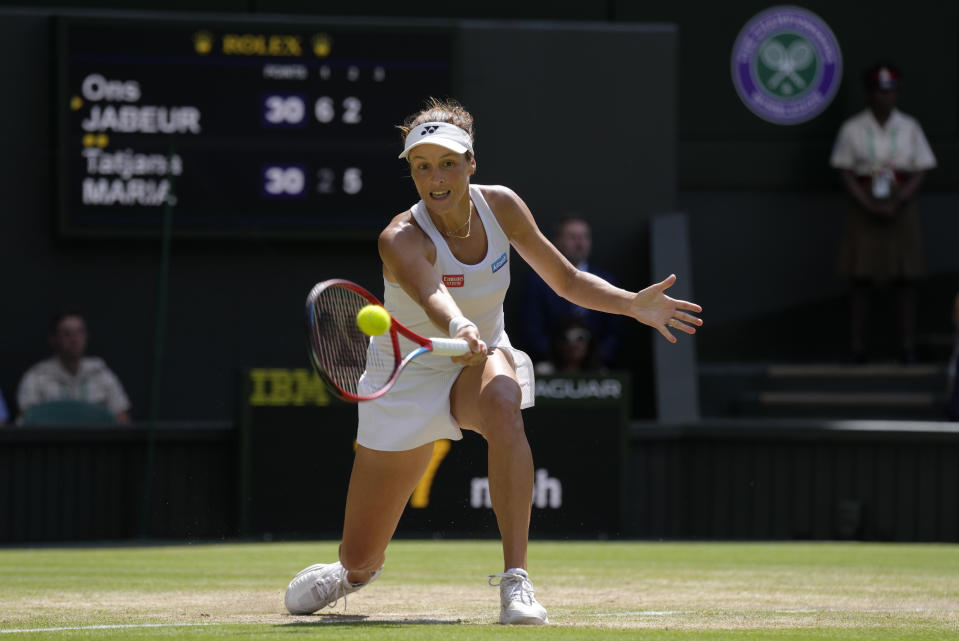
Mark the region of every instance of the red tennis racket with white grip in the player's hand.
POLYGON ((461 338, 424 338, 390 316, 387 341, 374 344, 356 325, 356 314, 366 305, 382 305, 376 296, 348 280, 325 280, 306 297, 306 330, 310 361, 330 391, 344 401, 371 401, 386 394, 400 372, 417 356, 469 354, 461 338), (418 347, 405 356, 399 337, 418 347))

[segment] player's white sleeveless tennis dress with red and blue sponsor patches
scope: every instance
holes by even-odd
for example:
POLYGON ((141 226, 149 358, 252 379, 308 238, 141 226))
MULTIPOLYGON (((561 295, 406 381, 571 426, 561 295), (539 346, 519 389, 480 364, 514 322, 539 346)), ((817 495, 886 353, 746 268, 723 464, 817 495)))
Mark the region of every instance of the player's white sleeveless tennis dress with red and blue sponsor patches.
MULTIPOLYGON (((503 299, 510 280, 509 239, 475 185, 470 186, 470 197, 486 229, 488 247, 486 256, 475 265, 463 264, 453 256, 422 200, 413 205, 413 218, 436 246, 436 271, 463 315, 476 323, 480 337, 489 347, 511 351, 523 394, 521 407, 525 409, 534 401, 532 362, 524 352, 513 348, 503 327, 503 299)), ((396 320, 421 336, 445 335, 402 287, 385 279, 383 283, 384 305, 396 320)), ((404 354, 415 347, 402 336, 399 340, 404 354)), ((389 334, 377 336, 372 339, 371 350, 389 355, 389 341, 389 334)), ((376 400, 359 404, 357 442, 373 450, 400 451, 437 439, 463 438, 450 414, 450 389, 462 369, 463 365, 453 363, 449 356, 424 354, 415 358, 393 389, 376 400)))

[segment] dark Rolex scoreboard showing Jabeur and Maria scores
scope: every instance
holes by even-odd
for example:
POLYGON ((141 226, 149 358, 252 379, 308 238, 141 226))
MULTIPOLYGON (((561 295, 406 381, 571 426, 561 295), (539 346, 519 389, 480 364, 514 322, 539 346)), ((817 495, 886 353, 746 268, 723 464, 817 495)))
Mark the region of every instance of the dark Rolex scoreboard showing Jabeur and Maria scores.
POLYGON ((64 236, 368 236, 416 200, 396 129, 442 25, 58 18, 64 236))

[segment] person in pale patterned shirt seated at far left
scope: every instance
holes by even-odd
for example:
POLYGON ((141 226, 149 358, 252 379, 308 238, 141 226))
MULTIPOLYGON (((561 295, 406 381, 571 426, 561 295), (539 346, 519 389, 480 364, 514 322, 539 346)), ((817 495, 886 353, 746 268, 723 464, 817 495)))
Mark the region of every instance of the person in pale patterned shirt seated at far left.
POLYGON ((31 406, 75 400, 102 405, 118 423, 130 422, 130 400, 103 359, 85 356, 87 327, 77 313, 58 314, 52 323, 53 356, 31 367, 20 380, 17 402, 21 415, 31 406))

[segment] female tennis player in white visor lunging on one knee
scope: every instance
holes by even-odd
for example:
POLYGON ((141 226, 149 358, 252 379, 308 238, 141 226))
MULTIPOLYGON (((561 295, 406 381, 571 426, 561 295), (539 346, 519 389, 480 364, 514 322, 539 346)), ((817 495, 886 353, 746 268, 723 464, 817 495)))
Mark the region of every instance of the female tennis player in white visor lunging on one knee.
MULTIPOLYGON (((312 565, 286 591, 293 614, 309 614, 379 576, 386 548, 437 439, 461 430, 486 439, 489 488, 503 541, 500 623, 547 623, 526 572, 533 458, 520 409, 533 404, 529 358, 503 327, 510 248, 559 295, 582 307, 630 316, 670 342, 670 329, 694 334, 701 308, 667 296, 670 276, 640 292, 613 287, 577 270, 543 236, 523 200, 501 186, 471 185, 476 172, 473 117, 454 101, 432 99, 400 127, 420 201, 379 236, 384 304, 423 336, 441 328, 466 340, 471 352, 427 354, 403 372, 388 393, 360 403, 358 448, 346 497, 339 561, 312 565)), ((390 352, 389 336, 373 349, 390 352)))

